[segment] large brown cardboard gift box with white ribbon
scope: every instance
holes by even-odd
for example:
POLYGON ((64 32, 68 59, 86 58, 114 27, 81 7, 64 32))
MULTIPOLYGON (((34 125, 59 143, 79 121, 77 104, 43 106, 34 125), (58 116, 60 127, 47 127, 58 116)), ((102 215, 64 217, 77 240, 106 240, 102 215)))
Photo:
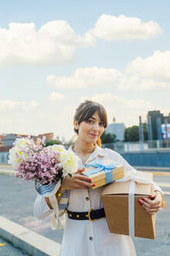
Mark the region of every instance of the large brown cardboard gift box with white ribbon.
MULTIPOLYGON (((142 172, 149 180, 153 180, 151 173, 142 172)), ((152 183, 135 182, 134 209, 129 210, 130 180, 121 183, 111 183, 102 191, 102 202, 106 212, 106 220, 110 233, 131 235, 129 211, 134 211, 133 236, 155 238, 154 215, 150 215, 138 203, 142 197, 149 197, 153 192, 152 183)))

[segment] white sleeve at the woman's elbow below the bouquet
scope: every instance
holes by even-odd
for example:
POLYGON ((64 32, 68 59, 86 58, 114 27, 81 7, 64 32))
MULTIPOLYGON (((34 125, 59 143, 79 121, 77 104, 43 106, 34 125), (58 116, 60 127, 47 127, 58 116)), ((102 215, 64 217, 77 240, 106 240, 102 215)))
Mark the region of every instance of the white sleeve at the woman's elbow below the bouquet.
POLYGON ((50 209, 45 198, 38 194, 34 203, 33 212, 36 218, 43 219, 50 215, 50 213, 53 212, 53 209, 50 209))

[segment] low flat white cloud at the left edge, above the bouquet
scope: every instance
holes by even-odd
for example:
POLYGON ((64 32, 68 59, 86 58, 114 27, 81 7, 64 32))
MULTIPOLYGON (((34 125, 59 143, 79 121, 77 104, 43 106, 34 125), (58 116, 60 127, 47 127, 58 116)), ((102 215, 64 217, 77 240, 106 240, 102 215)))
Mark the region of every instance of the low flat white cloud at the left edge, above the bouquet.
POLYGON ((13 110, 13 109, 24 109, 29 110, 37 108, 39 105, 36 101, 0 101, 0 110, 13 110))

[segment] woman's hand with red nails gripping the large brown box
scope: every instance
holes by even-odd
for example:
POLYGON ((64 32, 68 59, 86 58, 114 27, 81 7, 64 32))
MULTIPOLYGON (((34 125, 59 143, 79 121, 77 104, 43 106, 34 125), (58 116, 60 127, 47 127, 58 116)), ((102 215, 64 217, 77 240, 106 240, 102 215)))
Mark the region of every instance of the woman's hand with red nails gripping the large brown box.
POLYGON ((155 191, 153 194, 150 194, 149 197, 150 198, 142 197, 142 199, 138 200, 138 202, 145 208, 146 212, 154 215, 161 208, 163 196, 161 192, 155 191))

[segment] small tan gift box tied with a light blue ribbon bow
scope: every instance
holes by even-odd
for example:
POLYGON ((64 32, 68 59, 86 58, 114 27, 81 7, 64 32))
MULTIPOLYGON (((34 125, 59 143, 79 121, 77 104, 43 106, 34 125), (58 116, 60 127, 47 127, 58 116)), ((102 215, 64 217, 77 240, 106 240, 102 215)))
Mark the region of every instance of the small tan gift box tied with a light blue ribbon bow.
POLYGON ((123 178, 124 166, 117 165, 110 159, 104 162, 97 160, 86 165, 83 173, 92 180, 92 183, 95 183, 95 187, 92 187, 92 190, 95 190, 107 183, 123 178))

